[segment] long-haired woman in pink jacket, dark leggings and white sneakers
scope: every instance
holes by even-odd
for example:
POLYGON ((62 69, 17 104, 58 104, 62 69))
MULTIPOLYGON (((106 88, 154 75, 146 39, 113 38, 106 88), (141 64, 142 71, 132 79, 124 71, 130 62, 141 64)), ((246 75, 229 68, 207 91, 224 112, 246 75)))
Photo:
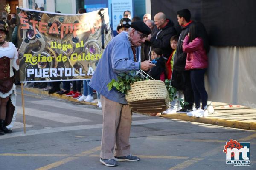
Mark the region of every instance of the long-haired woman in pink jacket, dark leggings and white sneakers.
POLYGON ((193 22, 189 27, 189 34, 183 40, 183 51, 187 53, 186 70, 190 71, 192 89, 195 98, 195 111, 187 113, 188 116, 206 117, 207 92, 204 87, 204 73, 208 67, 207 53, 209 42, 204 25, 200 22, 193 22), (202 107, 200 108, 200 102, 202 107))

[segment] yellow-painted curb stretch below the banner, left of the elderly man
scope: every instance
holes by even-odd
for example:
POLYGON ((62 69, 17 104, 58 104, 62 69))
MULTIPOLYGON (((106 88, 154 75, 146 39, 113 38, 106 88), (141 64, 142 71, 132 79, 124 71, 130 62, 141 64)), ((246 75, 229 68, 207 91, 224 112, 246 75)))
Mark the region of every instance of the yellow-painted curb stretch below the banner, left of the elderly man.
POLYGON ((84 101, 79 102, 79 101, 77 101, 77 99, 73 99, 72 97, 69 97, 69 96, 60 95, 60 94, 56 94, 56 93, 48 94, 48 91, 43 91, 43 90, 39 90, 39 89, 36 89, 36 88, 24 88, 24 90, 35 93, 35 94, 43 94, 43 95, 49 96, 49 97, 56 97, 56 98, 68 100, 68 101, 71 101, 71 102, 76 102, 76 103, 86 104, 86 105, 94 105, 94 106, 97 107, 97 103, 84 102, 84 101))

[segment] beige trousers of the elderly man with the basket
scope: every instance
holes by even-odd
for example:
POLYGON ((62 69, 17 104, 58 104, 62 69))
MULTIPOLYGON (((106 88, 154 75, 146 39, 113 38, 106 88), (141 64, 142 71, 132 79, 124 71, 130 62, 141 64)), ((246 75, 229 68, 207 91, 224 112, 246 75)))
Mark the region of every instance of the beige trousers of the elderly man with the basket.
POLYGON ((100 157, 113 159, 113 156, 130 154, 131 109, 129 105, 109 100, 101 95, 103 129, 100 157), (121 118, 120 118, 121 115, 121 118), (113 150, 115 149, 115 153, 113 150))

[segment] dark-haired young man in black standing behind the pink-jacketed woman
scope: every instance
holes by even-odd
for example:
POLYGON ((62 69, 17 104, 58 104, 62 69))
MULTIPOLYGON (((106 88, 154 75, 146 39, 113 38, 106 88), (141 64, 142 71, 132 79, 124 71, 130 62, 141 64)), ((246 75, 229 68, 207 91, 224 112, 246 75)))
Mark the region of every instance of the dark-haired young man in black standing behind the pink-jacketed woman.
POLYGON ((182 43, 186 35, 189 33, 191 13, 188 9, 182 9, 177 12, 178 23, 181 26, 181 33, 178 40, 177 50, 174 57, 174 65, 172 72, 172 86, 184 91, 185 102, 188 102, 185 108, 177 111, 177 113, 187 113, 192 111, 194 105, 194 93, 191 86, 190 71, 185 70, 186 56, 182 50, 182 43), (180 78, 179 78, 180 77, 180 78))

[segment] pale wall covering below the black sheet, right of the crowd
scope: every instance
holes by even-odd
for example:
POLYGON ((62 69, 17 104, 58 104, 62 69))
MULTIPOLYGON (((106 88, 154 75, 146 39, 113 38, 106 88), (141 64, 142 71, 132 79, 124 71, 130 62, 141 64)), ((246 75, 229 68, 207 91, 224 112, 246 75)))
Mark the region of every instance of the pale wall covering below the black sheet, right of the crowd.
POLYGON ((256 47, 213 47, 205 85, 208 100, 256 108, 256 47))

